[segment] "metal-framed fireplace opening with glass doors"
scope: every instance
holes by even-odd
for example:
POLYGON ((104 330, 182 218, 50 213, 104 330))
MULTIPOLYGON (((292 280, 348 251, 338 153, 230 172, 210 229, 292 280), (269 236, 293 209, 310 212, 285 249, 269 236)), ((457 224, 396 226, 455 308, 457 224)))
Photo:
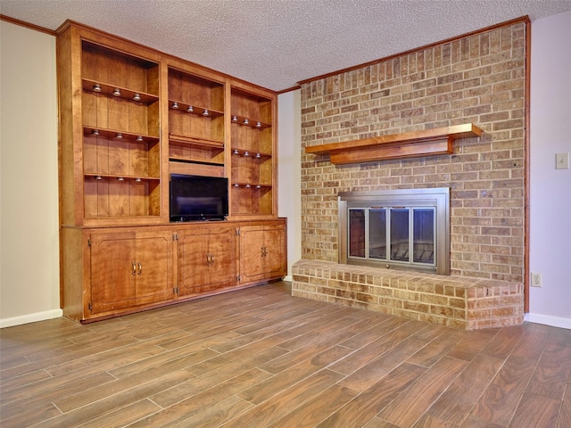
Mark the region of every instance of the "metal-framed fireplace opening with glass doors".
POLYGON ((339 193, 339 262, 450 275, 450 190, 339 193))

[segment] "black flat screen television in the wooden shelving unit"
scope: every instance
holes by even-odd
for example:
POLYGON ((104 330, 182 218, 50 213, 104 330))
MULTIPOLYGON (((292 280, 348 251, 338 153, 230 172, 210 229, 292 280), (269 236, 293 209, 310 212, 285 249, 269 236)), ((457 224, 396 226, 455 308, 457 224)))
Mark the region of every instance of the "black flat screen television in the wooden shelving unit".
POLYGON ((170 175, 170 221, 224 220, 228 178, 170 175))

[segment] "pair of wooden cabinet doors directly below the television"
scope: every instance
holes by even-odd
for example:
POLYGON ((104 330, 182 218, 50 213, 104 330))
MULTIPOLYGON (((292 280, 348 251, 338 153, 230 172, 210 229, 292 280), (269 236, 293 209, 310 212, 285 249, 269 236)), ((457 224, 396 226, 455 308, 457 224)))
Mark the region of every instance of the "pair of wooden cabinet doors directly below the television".
POLYGON ((178 295, 236 284, 236 230, 200 227, 178 231, 178 295))

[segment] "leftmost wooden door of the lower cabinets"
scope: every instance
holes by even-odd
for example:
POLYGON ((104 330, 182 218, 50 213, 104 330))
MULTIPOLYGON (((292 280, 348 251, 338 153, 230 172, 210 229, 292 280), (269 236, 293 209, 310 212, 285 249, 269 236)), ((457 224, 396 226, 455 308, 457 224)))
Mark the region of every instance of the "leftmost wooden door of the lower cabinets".
POLYGON ((91 236, 91 310, 94 314, 137 304, 135 233, 91 236))

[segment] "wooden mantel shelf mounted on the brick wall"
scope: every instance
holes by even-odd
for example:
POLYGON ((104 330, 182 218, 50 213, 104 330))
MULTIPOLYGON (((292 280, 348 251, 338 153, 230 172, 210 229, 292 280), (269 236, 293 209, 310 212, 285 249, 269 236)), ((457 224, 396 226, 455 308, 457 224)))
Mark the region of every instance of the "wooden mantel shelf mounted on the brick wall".
POLYGON ((375 136, 342 143, 306 147, 306 153, 329 154, 331 163, 346 164, 451 154, 454 140, 482 136, 482 129, 471 123, 426 129, 391 136, 375 136))

